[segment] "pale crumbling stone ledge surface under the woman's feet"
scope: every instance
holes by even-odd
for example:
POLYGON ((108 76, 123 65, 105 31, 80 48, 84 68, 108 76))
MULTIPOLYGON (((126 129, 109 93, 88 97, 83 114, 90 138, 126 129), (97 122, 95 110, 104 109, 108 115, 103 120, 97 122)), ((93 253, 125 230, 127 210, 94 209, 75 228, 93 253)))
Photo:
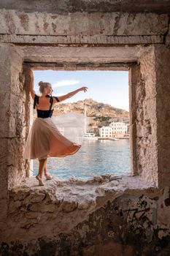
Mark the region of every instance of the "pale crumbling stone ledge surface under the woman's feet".
MULTIPOLYGON (((144 181, 140 176, 131 174, 94 176, 88 179, 53 177, 52 180, 45 180, 43 177, 43 181, 45 186, 39 186, 35 176, 25 178, 20 185, 10 190, 10 195, 15 194, 15 200, 20 200, 20 197, 24 199, 31 194, 31 198, 34 197, 34 200, 39 202, 42 198, 39 195, 43 194, 45 197, 49 197, 50 203, 63 204, 63 202, 67 202, 76 205, 78 209, 87 209, 93 205, 96 209, 101 206, 99 203, 101 199, 107 202, 107 200, 113 200, 124 193, 138 194, 155 189, 153 184, 144 181)), ((69 212, 69 208, 65 208, 63 211, 69 212)))

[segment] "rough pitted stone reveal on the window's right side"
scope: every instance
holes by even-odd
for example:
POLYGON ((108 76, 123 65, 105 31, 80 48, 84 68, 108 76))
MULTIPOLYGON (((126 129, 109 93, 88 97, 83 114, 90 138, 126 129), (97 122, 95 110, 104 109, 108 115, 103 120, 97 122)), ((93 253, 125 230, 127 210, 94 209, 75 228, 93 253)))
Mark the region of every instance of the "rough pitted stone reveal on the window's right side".
POLYGON ((136 83, 136 157, 137 170, 158 186, 158 141, 156 116, 155 51, 148 49, 139 60, 136 83))

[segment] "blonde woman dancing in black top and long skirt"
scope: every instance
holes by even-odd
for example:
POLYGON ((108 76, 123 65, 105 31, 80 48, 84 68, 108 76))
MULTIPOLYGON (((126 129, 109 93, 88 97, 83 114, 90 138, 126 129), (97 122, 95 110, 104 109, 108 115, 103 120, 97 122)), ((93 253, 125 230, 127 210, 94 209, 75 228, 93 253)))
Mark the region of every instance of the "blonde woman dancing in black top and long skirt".
POLYGON ((34 91, 34 75, 31 69, 29 75, 30 92, 32 99, 34 99, 34 108, 36 108, 37 111, 37 118, 34 120, 28 134, 23 157, 25 159, 39 159, 39 173, 36 179, 39 181, 39 185, 43 186, 43 171, 46 179, 53 178, 53 176, 47 173, 47 157, 66 157, 67 155, 76 153, 81 147, 80 144, 74 143, 74 141, 69 140, 59 132, 52 118, 53 105, 73 97, 79 91, 85 92, 88 88, 81 87, 69 94, 55 97, 52 96, 53 89, 51 84, 41 81, 39 82, 39 91, 42 93, 42 96, 38 96, 34 91))

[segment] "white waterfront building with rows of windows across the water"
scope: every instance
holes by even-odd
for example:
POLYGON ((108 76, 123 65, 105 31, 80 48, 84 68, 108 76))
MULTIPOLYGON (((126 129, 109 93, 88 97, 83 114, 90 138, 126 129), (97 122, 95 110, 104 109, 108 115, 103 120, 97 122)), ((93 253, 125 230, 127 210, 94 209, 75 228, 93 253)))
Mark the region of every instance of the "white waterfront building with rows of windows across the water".
POLYGON ((112 122, 109 127, 99 128, 100 137, 112 138, 115 135, 124 135, 128 132, 128 125, 121 122, 112 122))

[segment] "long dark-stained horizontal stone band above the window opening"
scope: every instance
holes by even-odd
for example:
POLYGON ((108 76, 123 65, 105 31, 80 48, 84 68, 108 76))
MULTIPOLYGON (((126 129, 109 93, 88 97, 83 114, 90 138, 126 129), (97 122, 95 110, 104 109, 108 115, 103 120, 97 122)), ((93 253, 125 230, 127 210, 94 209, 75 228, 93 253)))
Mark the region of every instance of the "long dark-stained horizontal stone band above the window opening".
POLYGON ((53 15, 47 12, 1 10, 0 34, 19 35, 155 35, 168 31, 168 15, 155 13, 76 12, 53 15), (98 22, 100 20, 100 22, 98 22), (150 20, 150 23, 148 23, 150 20), (142 22, 142 26, 139 23, 142 22))

